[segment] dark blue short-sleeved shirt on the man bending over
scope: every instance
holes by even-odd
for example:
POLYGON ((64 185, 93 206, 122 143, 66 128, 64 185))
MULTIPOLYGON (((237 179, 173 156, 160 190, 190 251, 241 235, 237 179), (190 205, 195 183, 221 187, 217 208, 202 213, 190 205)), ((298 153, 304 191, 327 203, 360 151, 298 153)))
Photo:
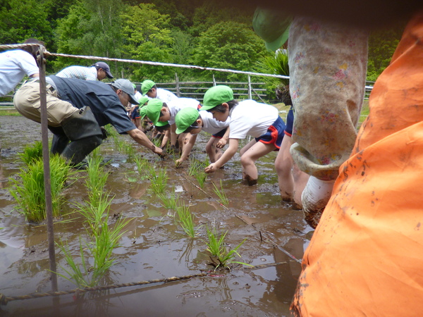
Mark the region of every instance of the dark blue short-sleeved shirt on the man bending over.
POLYGON ((111 124, 118 133, 136 129, 126 114, 114 89, 104 82, 49 76, 56 85, 59 98, 76 108, 89 106, 99 125, 111 124))

